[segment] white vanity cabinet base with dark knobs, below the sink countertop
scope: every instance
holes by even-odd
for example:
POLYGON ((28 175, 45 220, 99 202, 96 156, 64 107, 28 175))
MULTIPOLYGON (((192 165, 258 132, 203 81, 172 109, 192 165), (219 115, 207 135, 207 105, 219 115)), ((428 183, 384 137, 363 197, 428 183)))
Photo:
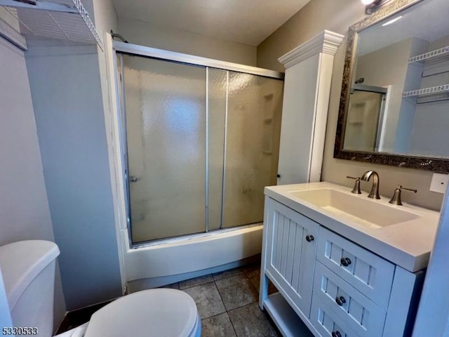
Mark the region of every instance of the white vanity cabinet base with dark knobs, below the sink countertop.
POLYGON ((423 279, 266 197, 260 308, 284 336, 410 336, 423 279))

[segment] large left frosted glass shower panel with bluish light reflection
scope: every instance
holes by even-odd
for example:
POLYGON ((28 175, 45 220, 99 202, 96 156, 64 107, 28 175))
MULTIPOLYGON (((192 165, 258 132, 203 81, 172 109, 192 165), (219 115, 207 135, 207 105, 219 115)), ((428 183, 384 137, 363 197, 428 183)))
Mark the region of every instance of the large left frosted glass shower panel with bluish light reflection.
POLYGON ((133 242, 206 230, 206 68, 124 56, 133 242))

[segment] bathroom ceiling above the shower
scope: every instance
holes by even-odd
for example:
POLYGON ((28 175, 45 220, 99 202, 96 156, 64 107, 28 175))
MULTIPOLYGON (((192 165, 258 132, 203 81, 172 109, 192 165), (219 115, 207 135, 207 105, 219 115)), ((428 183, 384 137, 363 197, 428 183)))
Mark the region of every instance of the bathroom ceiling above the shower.
POLYGON ((113 0, 119 18, 259 45, 310 0, 113 0))

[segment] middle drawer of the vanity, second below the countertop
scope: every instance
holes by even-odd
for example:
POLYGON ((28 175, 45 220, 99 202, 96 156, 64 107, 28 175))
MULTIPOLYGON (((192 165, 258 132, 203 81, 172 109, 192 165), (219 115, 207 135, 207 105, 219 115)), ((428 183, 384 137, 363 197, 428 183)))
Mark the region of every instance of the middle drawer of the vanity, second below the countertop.
POLYGON ((315 267, 314 297, 321 298, 358 336, 382 336, 387 311, 319 262, 315 267))

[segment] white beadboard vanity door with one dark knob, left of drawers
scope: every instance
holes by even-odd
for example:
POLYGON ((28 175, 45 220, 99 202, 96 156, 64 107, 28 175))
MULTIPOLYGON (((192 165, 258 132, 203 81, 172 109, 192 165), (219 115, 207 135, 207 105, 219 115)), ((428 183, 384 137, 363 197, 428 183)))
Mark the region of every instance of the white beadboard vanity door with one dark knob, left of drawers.
MULTIPOLYGON (((309 317, 319 224, 269 199, 266 272, 309 317)), ((291 303, 290 303, 291 304, 291 303)))

